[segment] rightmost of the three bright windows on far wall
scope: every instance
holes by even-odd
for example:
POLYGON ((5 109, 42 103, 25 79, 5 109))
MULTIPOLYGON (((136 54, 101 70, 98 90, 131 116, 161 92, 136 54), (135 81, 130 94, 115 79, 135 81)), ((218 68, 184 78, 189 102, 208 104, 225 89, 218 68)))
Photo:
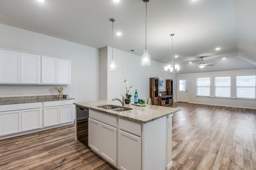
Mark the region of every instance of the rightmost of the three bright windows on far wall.
POLYGON ((236 76, 236 98, 255 99, 256 76, 236 76))

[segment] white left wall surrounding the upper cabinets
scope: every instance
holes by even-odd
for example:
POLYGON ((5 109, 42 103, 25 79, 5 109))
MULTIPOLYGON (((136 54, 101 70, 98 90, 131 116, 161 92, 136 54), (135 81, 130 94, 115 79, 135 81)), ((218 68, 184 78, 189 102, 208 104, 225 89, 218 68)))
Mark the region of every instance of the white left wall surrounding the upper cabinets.
MULTIPOLYGON (((47 35, 0 24, 0 47, 51 55, 71 60, 71 85, 65 85, 64 94, 76 102, 99 99, 99 50, 47 35)), ((58 85, 3 85, 0 97, 58 94, 58 85)))

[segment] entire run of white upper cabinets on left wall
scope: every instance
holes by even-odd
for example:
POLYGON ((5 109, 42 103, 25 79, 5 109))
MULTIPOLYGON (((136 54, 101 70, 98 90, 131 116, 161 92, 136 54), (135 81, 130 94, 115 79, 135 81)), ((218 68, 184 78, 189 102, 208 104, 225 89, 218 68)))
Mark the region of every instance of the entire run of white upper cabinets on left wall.
POLYGON ((0 49, 0 84, 71 84, 71 61, 0 49))

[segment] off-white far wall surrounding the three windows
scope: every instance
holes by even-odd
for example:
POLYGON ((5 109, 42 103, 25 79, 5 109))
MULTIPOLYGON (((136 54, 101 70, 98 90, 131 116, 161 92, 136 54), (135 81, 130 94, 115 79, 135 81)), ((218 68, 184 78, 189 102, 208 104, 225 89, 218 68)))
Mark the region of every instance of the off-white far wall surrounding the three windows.
POLYGON ((244 76, 244 75, 256 75, 256 69, 176 74, 176 78, 177 79, 188 78, 188 102, 189 103, 256 109, 256 100, 236 99, 236 76, 244 76), (231 76, 231 98, 214 98, 214 77, 216 76, 231 76), (210 96, 211 97, 196 97, 196 78, 198 77, 210 77, 210 80, 211 80, 210 96))

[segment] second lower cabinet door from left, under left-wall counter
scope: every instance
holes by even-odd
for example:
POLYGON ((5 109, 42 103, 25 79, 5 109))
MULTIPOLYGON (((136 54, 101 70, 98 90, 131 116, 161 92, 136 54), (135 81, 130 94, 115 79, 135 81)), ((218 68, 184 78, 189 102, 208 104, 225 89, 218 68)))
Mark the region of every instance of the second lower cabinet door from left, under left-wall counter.
POLYGON ((21 131, 40 129, 42 127, 42 109, 27 109, 21 111, 21 131))

